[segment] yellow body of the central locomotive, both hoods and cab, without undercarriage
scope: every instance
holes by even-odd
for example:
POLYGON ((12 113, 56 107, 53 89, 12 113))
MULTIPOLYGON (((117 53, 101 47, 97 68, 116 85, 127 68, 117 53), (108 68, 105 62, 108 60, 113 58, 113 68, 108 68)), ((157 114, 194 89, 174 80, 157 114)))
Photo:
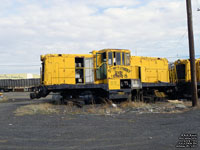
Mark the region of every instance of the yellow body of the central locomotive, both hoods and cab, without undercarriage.
MULTIPOLYGON (((48 54, 44 63, 44 85, 76 84, 75 58, 93 58, 94 84, 108 84, 109 90, 120 89, 121 79, 141 79, 145 83, 169 82, 168 61, 164 58, 132 56, 125 49, 103 49, 91 54, 48 54), (120 61, 117 61, 118 59, 120 61), (140 70, 140 71, 139 71, 140 70)), ((82 67, 85 69, 84 67, 82 67)), ((41 74, 42 77, 42 74, 41 74)), ((85 84, 85 83, 84 83, 85 84)))

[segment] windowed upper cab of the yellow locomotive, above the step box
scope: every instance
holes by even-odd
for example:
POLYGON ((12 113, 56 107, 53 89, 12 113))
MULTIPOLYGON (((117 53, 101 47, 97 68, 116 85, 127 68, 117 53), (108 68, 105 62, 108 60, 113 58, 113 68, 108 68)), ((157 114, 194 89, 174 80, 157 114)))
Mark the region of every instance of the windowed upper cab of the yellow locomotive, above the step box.
POLYGON ((131 78, 129 50, 104 49, 93 53, 96 56, 95 79, 97 83, 107 84, 111 80, 117 82, 119 79, 131 78))

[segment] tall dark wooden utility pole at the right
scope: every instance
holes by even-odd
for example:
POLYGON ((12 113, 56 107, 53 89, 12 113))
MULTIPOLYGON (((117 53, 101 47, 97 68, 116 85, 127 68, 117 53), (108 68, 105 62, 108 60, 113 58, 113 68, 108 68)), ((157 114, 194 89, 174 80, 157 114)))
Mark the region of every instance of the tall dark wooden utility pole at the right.
POLYGON ((190 50, 192 106, 196 107, 199 106, 199 101, 197 95, 197 78, 196 78, 196 68, 195 68, 195 51, 194 51, 191 0, 186 0, 186 5, 187 5, 187 22, 188 22, 188 40, 189 40, 189 50, 190 50))

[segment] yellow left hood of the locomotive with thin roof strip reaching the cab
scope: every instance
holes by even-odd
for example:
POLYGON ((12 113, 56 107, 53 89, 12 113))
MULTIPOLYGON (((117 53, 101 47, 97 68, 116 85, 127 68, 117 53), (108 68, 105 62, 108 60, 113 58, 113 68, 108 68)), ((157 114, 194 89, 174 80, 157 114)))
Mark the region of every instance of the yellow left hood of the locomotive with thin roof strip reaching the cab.
POLYGON ((75 84, 75 57, 89 58, 83 54, 47 54, 41 56, 44 62, 44 85, 75 84))

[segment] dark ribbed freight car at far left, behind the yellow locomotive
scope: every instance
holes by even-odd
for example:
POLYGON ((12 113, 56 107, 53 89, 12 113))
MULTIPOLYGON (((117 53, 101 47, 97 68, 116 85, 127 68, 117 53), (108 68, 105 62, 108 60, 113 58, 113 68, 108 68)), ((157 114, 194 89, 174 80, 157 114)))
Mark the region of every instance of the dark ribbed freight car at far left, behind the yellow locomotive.
POLYGON ((1 79, 0 91, 32 91, 33 87, 40 85, 40 79, 1 79))

